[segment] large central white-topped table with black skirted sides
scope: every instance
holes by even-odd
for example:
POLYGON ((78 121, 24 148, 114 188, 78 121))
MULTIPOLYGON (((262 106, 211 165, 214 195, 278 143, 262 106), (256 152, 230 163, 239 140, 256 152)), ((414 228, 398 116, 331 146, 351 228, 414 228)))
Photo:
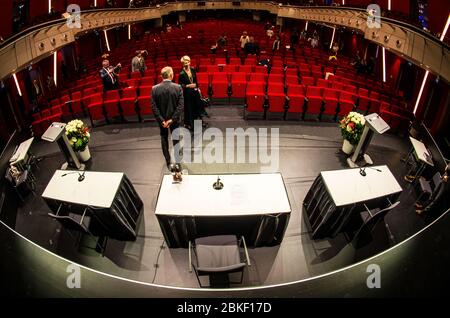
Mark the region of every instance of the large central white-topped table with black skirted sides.
POLYGON ((217 177, 163 177, 155 214, 169 247, 216 234, 244 235, 250 246, 279 244, 291 212, 281 174, 220 175, 222 190, 213 188, 217 177))

